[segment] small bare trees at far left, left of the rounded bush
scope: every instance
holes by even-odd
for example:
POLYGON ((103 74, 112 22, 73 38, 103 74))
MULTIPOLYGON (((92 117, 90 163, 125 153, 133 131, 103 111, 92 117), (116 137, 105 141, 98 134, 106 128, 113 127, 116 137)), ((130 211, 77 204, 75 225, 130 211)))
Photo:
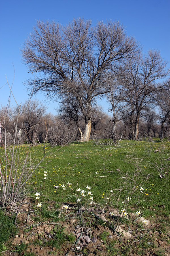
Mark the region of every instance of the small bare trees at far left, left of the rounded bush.
POLYGON ((44 141, 47 127, 51 123, 50 114, 39 100, 28 100, 14 108, 4 107, 0 111, 1 144, 5 139, 12 143, 16 130, 22 130, 22 138, 27 143, 44 141))

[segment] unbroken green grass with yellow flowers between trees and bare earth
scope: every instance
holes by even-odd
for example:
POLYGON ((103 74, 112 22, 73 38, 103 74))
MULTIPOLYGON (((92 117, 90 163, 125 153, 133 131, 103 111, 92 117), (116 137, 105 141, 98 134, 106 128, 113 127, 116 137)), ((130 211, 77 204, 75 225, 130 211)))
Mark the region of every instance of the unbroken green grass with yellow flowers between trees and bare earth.
MULTIPOLYGON (((46 160, 31 179, 32 191, 36 189, 45 196, 41 196, 38 202, 43 203, 47 197, 57 203, 76 203, 76 196, 73 195, 73 192, 79 195, 75 190, 85 189, 85 186, 89 185, 92 187, 93 200, 102 204, 107 202, 106 197, 111 198, 111 189, 120 189, 126 182, 120 195, 120 202, 124 201, 127 196, 131 196, 131 187, 134 184, 139 186, 139 189, 141 185, 145 189, 144 193, 139 193, 137 188, 131 196, 129 206, 137 208, 137 210, 142 209, 146 215, 160 213, 161 208, 162 214, 169 216, 170 181, 164 178, 160 179, 157 169, 150 164, 152 162, 161 166, 160 161, 163 161, 165 167, 168 168, 169 162, 164 158, 168 158, 168 154, 170 154, 169 142, 162 145, 157 140, 151 143, 148 141, 121 141, 118 147, 115 147, 99 146, 95 145, 93 141, 89 141, 88 143, 75 142, 57 151, 58 149, 59 147, 50 149, 50 146, 46 146, 46 150, 49 150, 46 160), (155 150, 160 147, 163 147, 163 152, 155 153, 155 150), (136 176, 137 168, 139 171, 141 170, 140 177, 136 181, 132 181, 131 178, 136 176), (46 180, 44 180, 44 171, 47 171, 46 180), (150 176, 146 179, 148 174, 150 176), (68 182, 72 183, 70 187, 67 185, 68 182), (63 184, 66 190, 62 189, 61 185, 63 184), (55 189, 54 185, 59 188, 55 189)), ((31 154, 37 161, 42 158, 43 149, 34 146, 31 154)), ((87 189, 85 190, 87 191, 87 189)), ((31 195, 34 198, 33 192, 31 195)), ((112 204, 116 203, 115 197, 112 204)))

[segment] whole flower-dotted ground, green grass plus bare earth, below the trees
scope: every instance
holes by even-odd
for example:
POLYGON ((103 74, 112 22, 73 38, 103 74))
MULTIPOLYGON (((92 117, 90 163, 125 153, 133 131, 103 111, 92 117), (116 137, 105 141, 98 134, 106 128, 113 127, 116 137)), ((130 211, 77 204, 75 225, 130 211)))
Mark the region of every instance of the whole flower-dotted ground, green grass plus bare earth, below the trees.
MULTIPOLYGON (((169 141, 45 144, 45 152, 17 218, 1 211, 5 255, 170 255, 169 141)), ((31 147, 32 162, 43 155, 31 147)))

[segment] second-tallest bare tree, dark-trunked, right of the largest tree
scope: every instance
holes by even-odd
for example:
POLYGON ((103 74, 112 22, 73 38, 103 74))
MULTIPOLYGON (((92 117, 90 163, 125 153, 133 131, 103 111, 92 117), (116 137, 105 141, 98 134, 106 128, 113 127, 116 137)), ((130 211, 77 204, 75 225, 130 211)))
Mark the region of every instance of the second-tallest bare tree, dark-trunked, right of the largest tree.
POLYGON ((141 111, 152 102, 153 92, 161 90, 165 84, 162 81, 170 70, 166 70, 166 62, 163 62, 159 51, 148 51, 147 55, 140 53, 135 58, 128 59, 119 68, 120 83, 124 85, 127 94, 127 102, 131 106, 131 114, 135 114, 135 135, 138 137, 138 125, 141 111))

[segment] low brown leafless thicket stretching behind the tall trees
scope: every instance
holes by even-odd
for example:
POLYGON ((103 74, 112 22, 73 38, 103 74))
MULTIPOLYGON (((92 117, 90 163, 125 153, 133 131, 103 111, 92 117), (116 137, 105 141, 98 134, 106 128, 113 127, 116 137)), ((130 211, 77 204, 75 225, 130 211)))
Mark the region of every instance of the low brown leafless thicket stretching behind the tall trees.
MULTIPOLYGON (((161 91, 162 92, 162 91, 161 91)), ((170 94, 160 98, 155 97, 157 112, 153 108, 144 108, 141 111, 138 130, 139 139, 143 137, 170 137, 170 94)), ((112 99, 110 97, 109 99, 112 99)), ((109 100, 108 99, 108 100, 109 100)), ((100 106, 92 110, 92 130, 90 139, 108 139, 115 143, 116 140, 132 139, 132 127, 135 131, 135 114, 125 112, 125 107, 120 108, 118 102, 111 104, 111 110, 105 113, 100 106), (114 115, 113 115, 114 113, 114 115), (128 115, 129 113, 129 115, 128 115), (133 121, 133 122, 132 122, 133 121), (133 126, 132 126, 133 125, 133 126)), ((151 106, 151 105, 150 105, 151 106)), ((80 140, 84 132, 84 118, 81 112, 72 112, 70 105, 59 106, 58 115, 46 113, 46 106, 39 100, 26 101, 15 108, 2 108, 0 111, 0 146, 14 141, 15 131, 22 130, 22 141, 36 144, 48 141, 53 145, 64 145, 70 141, 80 140), (76 118, 77 117, 77 118, 76 118)))

